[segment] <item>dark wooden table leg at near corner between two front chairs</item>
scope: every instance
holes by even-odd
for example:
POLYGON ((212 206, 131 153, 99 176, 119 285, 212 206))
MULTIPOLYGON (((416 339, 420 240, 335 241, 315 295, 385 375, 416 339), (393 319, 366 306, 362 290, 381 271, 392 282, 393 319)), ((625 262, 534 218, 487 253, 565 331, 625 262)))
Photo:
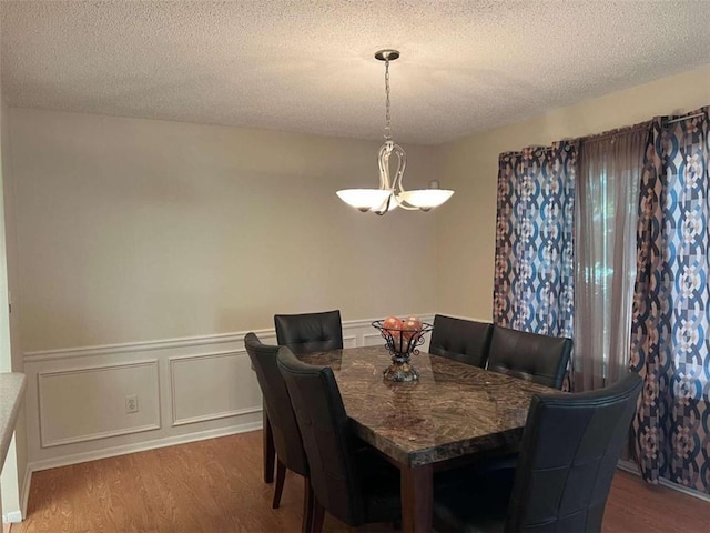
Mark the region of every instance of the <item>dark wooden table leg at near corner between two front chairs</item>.
POLYGON ((402 467, 402 531, 429 533, 434 507, 434 469, 430 464, 402 467))

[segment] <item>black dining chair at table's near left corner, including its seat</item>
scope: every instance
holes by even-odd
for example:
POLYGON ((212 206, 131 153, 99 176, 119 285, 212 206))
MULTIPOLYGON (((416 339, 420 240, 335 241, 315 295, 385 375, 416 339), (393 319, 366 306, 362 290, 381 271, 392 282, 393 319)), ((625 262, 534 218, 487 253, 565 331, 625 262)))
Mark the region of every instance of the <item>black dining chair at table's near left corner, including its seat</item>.
POLYGON ((311 467, 313 531, 324 511, 349 526, 400 520, 399 470, 351 431, 333 370, 302 363, 286 346, 277 361, 311 467))

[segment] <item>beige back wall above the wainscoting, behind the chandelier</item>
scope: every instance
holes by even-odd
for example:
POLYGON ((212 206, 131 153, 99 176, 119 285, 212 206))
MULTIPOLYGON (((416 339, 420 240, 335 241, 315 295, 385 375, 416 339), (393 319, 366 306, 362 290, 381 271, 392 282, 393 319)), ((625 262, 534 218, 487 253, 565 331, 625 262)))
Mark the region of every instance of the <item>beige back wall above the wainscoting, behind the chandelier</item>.
MULTIPOLYGON (((378 144, 11 109, 27 352, 434 305, 434 213, 362 214, 378 144)), ((407 184, 435 148, 406 147, 407 184)))

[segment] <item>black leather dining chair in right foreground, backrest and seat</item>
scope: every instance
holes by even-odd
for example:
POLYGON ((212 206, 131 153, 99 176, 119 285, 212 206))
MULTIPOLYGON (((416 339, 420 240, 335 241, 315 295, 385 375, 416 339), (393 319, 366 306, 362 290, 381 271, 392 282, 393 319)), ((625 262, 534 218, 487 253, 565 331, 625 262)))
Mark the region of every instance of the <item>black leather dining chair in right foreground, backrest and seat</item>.
POLYGON ((470 471, 434 494, 437 531, 599 532, 642 380, 535 395, 516 469, 470 471))

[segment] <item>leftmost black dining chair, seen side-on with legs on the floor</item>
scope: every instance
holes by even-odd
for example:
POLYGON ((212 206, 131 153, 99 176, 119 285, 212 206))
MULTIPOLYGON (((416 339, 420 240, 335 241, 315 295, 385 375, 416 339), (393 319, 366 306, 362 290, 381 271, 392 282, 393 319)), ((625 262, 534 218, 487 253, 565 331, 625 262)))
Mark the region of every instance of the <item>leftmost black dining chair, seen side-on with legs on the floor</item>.
POLYGON ((303 533, 308 533, 313 519, 313 491, 308 475, 308 461, 303 449, 298 423, 291 406, 288 391, 276 363, 278 346, 263 344, 254 333, 247 333, 244 336, 244 346, 252 360, 252 366, 264 396, 276 450, 276 484, 272 507, 277 509, 281 504, 286 469, 301 474, 304 479, 302 529, 303 533))

